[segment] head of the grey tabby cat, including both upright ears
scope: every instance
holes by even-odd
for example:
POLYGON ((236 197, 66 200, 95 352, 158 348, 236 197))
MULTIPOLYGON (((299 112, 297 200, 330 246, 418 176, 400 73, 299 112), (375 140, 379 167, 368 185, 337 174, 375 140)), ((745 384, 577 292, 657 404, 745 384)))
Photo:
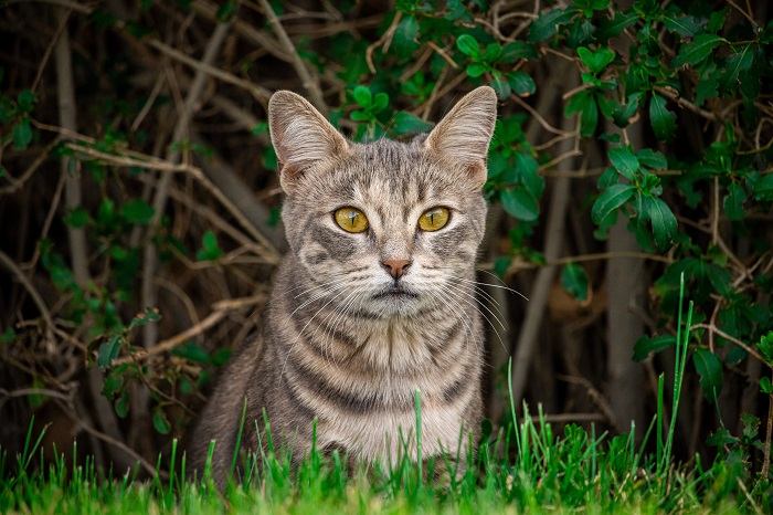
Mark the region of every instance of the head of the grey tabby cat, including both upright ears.
POLYGON ((303 97, 275 93, 268 118, 283 221, 309 287, 318 286, 309 295, 378 317, 463 304, 459 286, 484 235, 496 108, 494 91, 478 87, 426 137, 354 144, 303 97))

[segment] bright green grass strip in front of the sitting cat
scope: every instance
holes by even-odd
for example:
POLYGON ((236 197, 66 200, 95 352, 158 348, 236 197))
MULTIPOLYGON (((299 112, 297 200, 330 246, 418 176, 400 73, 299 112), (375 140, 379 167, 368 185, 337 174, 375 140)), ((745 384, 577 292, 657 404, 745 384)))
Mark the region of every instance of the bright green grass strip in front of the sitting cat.
MULTIPOLYGON (((686 327, 690 317, 691 307, 686 327)), ((658 414, 639 444, 633 434, 610 437, 576 425, 555 434, 541 413, 534 421, 526 407, 517 420, 511 401, 510 423, 485 438, 464 472, 445 481, 427 477, 436 466, 451 467, 447 461, 403 456, 391 469, 348 471, 346 456, 314 450, 292 467, 286 453, 269 449, 260 456, 264 466, 257 466, 258 456, 246 456, 239 481, 221 492, 207 472, 202 479, 188 475, 176 441, 163 462, 159 458, 157 470, 166 472, 153 479, 103 477, 91 460, 67 463, 59 454, 45 462, 42 434, 33 439, 31 424, 14 460, 0 450, 0 513, 771 513, 770 483, 754 482, 742 461, 703 466, 697 458, 689 464, 673 458, 688 336, 680 325, 673 421, 663 418, 660 376, 658 414), (653 432, 654 454, 645 452, 653 432)), ((417 421, 421 414, 416 402, 417 421)), ((415 438, 421 455, 421 432, 415 438)), ((234 456, 232 470, 236 464, 234 456)))

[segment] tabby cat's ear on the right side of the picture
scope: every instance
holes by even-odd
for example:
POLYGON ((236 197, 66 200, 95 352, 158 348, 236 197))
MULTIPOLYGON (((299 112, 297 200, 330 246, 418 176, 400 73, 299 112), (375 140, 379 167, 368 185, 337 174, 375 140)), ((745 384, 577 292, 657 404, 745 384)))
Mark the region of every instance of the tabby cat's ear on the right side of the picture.
POLYGON ((486 156, 497 120, 497 94, 488 86, 467 93, 424 141, 451 162, 467 167, 476 185, 486 182, 486 156))

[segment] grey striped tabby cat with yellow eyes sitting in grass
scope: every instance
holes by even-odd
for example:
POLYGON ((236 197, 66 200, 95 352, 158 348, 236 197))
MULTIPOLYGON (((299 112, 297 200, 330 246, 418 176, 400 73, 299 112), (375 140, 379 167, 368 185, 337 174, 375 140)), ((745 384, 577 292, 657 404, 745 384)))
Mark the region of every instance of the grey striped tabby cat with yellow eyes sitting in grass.
POLYGON ((235 354, 201 414, 190 449, 199 470, 215 440, 211 472, 223 484, 242 413, 242 448, 257 451, 264 410, 273 444, 294 460, 311 449, 316 424, 318 449, 389 464, 415 452, 416 391, 422 455, 464 459, 483 416, 474 280, 496 109, 481 86, 428 135, 356 144, 301 96, 274 93, 289 251, 262 334, 235 354))

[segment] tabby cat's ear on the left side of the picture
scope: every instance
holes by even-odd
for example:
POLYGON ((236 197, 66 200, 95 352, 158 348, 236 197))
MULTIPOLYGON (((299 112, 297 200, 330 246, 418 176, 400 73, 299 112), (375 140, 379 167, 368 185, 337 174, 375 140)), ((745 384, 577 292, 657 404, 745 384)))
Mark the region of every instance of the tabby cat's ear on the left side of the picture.
POLYGON ((286 193, 306 170, 349 150, 346 138, 311 104, 288 91, 278 91, 268 101, 268 127, 286 193))

